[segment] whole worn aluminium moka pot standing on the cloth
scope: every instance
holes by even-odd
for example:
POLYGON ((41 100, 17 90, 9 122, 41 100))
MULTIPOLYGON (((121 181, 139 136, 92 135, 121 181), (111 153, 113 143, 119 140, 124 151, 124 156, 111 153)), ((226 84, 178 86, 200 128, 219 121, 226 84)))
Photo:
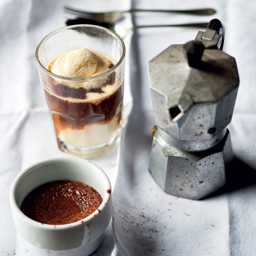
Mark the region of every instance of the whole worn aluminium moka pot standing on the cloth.
POLYGON ((156 120, 148 169, 168 194, 198 200, 226 183, 239 75, 223 42, 214 19, 195 41, 170 45, 148 63, 156 120))

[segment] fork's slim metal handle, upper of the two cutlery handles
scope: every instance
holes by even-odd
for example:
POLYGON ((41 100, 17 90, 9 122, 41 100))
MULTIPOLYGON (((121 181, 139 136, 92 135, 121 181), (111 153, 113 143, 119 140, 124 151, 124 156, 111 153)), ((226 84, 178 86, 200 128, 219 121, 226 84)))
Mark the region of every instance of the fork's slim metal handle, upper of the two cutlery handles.
POLYGON ((212 15, 216 13, 216 10, 212 8, 207 9, 194 9, 194 10, 143 10, 143 9, 131 9, 124 12, 165 12, 165 13, 183 13, 183 14, 193 14, 193 15, 212 15))

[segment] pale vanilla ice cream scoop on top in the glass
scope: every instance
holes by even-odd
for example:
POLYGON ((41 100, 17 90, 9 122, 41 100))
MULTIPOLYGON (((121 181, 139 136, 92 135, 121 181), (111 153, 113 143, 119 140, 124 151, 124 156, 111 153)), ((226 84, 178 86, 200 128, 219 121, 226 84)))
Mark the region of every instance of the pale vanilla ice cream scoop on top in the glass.
POLYGON ((61 54, 51 64, 53 74, 81 78, 97 73, 100 60, 92 51, 80 48, 61 54))

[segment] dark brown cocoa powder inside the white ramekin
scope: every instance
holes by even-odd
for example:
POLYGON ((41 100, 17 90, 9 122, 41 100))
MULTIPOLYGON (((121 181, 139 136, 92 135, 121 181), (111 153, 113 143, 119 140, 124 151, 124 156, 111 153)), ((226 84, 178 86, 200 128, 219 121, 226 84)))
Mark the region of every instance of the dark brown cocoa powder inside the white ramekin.
POLYGON ((86 218, 102 203, 99 192, 79 181, 49 182, 26 196, 20 210, 32 220, 62 225, 86 218))

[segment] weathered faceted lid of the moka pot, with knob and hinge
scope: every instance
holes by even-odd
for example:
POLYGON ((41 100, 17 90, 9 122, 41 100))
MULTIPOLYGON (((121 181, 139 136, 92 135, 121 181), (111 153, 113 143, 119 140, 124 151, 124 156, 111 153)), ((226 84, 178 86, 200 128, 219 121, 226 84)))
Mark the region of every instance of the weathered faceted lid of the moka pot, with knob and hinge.
POLYGON ((223 40, 223 26, 214 19, 195 41, 170 45, 149 62, 150 88, 164 95, 173 118, 175 111, 184 113, 193 104, 217 102, 239 86, 236 60, 221 51, 223 40))

